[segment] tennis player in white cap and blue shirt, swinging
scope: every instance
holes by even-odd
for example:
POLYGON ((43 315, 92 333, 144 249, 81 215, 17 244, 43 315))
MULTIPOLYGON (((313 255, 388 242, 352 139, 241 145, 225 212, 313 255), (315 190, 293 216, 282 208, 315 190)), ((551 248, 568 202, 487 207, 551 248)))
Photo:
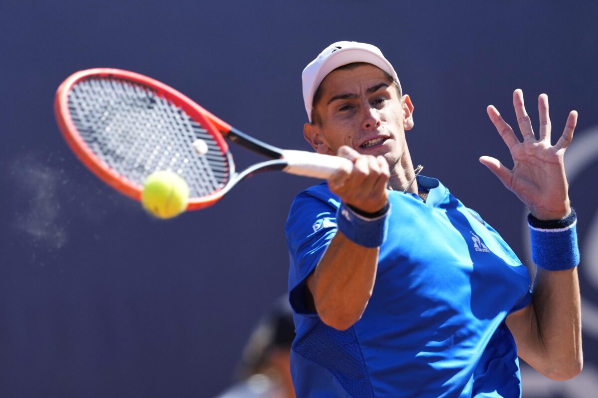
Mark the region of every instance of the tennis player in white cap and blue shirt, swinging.
POLYGON ((563 167, 576 112, 552 146, 545 94, 539 138, 520 90, 523 141, 487 109, 514 168, 480 161, 530 209, 531 289, 501 236, 414 169, 413 103, 378 48, 332 44, 303 71, 303 96, 306 140, 352 167, 297 195, 286 223, 297 397, 519 397, 518 356, 554 380, 577 375, 579 254, 563 167))

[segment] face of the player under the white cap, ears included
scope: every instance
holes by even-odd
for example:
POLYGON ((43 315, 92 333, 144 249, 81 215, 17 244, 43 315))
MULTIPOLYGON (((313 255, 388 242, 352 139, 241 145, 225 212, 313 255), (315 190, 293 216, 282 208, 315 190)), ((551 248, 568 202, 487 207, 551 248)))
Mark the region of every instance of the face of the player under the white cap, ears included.
POLYGON ((413 126, 409 98, 399 98, 385 72, 371 64, 329 73, 320 85, 319 123, 307 124, 306 139, 319 153, 335 155, 347 145, 365 155, 382 155, 391 166, 405 152, 405 129, 413 126))

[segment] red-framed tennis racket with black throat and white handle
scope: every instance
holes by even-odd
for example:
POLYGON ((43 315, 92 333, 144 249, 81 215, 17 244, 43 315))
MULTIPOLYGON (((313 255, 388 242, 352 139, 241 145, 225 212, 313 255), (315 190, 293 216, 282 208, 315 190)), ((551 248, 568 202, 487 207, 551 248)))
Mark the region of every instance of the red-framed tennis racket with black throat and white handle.
POLYGON ((213 205, 258 172, 281 170, 325 179, 349 162, 263 143, 181 92, 126 70, 74 73, 58 88, 54 111, 71 149, 109 186, 141 200, 149 174, 173 171, 189 186, 187 210, 213 205), (270 160, 237 173, 224 138, 270 160))

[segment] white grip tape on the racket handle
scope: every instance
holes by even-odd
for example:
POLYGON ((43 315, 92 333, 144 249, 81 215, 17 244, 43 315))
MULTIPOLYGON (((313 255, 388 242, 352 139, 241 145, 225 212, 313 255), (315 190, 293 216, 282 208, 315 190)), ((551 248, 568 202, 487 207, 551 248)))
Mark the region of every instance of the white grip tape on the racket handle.
POLYGON ((350 165, 350 168, 353 168, 353 163, 349 159, 304 150, 285 149, 282 151, 282 158, 288 163, 283 171, 324 180, 343 165, 350 165))

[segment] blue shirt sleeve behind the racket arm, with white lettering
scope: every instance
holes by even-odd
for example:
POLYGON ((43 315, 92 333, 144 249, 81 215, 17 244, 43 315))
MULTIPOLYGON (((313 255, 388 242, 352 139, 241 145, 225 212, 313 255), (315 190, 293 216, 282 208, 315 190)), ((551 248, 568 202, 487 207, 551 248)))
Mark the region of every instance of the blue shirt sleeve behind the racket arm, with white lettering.
POLYGON ((286 221, 289 249, 289 302, 295 313, 318 316, 307 306, 306 279, 315 269, 337 231, 336 212, 340 202, 325 185, 301 192, 295 198, 286 221))

